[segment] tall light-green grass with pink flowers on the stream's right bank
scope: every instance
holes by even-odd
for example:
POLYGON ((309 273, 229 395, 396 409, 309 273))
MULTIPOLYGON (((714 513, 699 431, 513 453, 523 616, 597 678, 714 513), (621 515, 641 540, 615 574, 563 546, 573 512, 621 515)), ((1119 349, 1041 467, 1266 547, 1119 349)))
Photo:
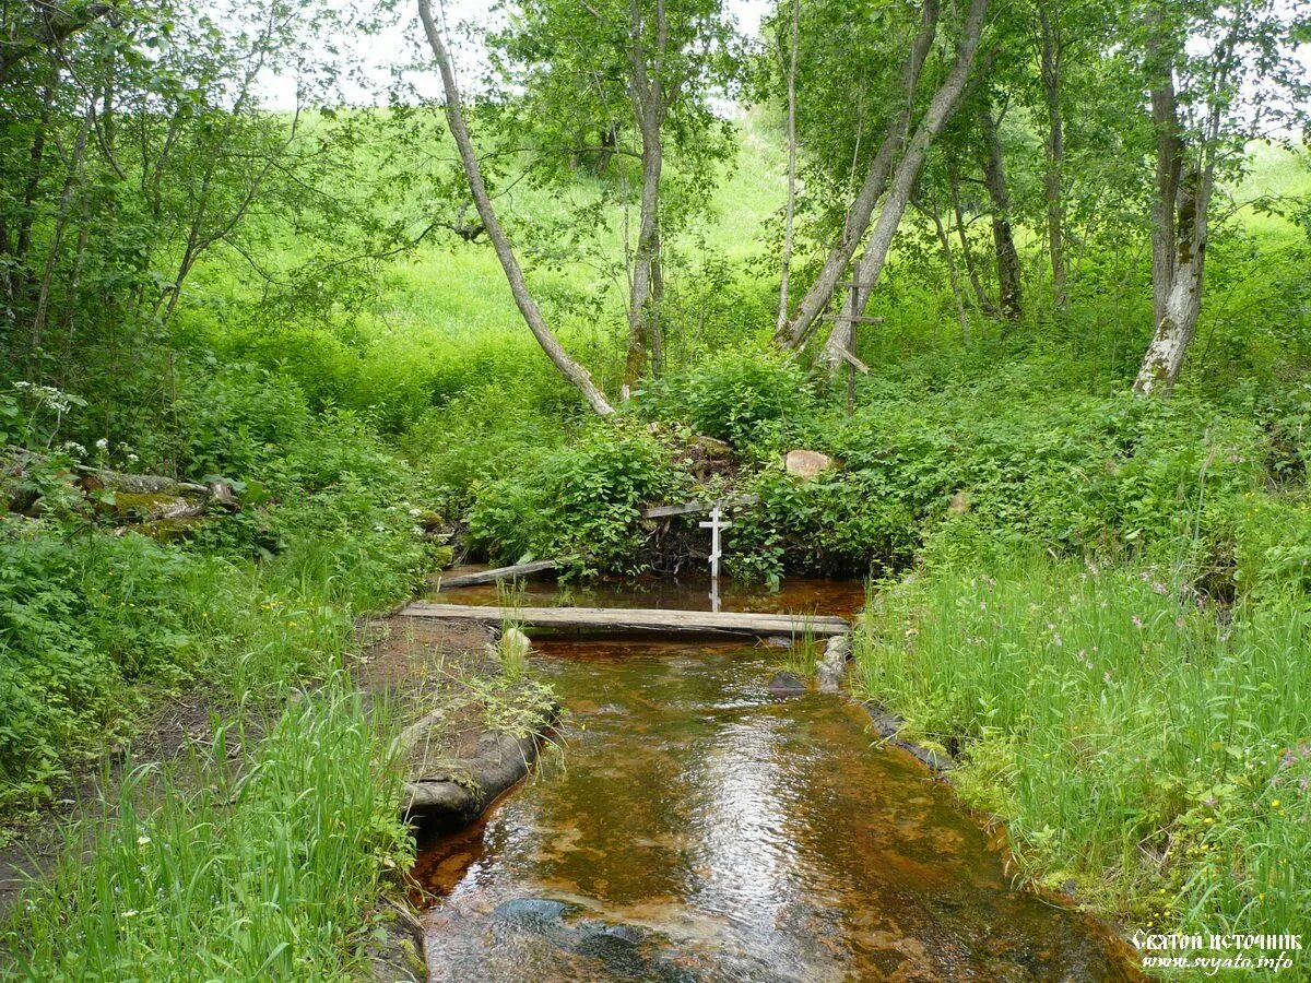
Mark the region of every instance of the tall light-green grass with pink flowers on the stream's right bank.
POLYGON ((889 590, 857 687, 958 743, 1030 874, 1141 928, 1311 933, 1308 632, 1291 600, 1034 557, 889 590))

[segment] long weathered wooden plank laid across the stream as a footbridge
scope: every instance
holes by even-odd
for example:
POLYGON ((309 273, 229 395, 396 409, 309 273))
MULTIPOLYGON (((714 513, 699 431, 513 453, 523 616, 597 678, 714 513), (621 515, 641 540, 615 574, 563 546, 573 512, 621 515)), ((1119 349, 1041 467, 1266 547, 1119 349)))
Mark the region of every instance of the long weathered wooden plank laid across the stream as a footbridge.
POLYGON ((435 604, 417 600, 408 617, 477 621, 499 625, 518 621, 530 628, 577 628, 610 632, 673 632, 699 634, 762 634, 829 637, 846 634, 851 624, 830 615, 756 615, 743 611, 666 611, 659 608, 511 608, 475 604, 435 604))

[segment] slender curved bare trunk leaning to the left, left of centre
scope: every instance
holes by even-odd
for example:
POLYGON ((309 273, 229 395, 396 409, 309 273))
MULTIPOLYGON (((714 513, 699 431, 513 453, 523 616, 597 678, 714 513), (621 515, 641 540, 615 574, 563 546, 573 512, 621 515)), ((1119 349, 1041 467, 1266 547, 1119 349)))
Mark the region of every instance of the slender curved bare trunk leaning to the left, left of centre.
POLYGON ((547 353, 547 357, 560 370, 560 374, 573 383, 574 388, 587 401, 587 405, 600 415, 608 415, 615 412, 615 408, 610 405, 604 393, 591 380, 587 370, 569 358, 564 346, 551 332, 551 328, 547 326, 541 311, 528 292, 528 284, 523 278, 523 270, 519 269, 519 261, 514 256, 510 240, 506 237, 505 229, 501 228, 501 222, 492 207, 492 199, 488 195, 486 185, 482 182, 482 172, 479 168, 479 157, 473 149, 473 140, 469 138, 469 130, 464 122, 464 111, 460 107, 460 90, 455 84, 455 72, 451 68, 451 59, 446 52, 446 45, 442 42, 442 34, 437 29, 437 21, 433 18, 430 0, 418 0, 418 16, 423 21, 423 31, 427 34, 433 56, 437 59, 437 66, 442 72, 442 87, 446 90, 446 121, 451 127, 451 136, 455 138, 455 144, 460 151, 464 176, 469 182, 469 194, 473 195, 473 204, 479 210, 479 218, 482 219, 482 224, 486 227, 488 237, 492 240, 497 258, 501 261, 501 267, 505 270, 505 277, 510 282, 510 292, 514 295, 514 303, 518 304, 519 313, 523 315, 523 320, 528 325, 528 330, 532 332, 532 337, 538 339, 541 350, 547 353))

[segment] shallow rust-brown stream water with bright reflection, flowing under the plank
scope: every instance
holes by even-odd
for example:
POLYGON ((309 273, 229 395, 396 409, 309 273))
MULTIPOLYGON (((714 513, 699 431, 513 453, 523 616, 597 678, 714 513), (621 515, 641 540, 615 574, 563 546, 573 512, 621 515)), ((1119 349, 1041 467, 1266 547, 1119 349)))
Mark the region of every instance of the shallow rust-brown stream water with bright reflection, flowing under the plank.
MULTIPOLYGON (((705 607, 701 585, 526 603, 705 607)), ((492 603, 490 588, 443 592, 492 603)), ((726 609, 851 613, 859 586, 725 591, 726 609)), ((540 771, 418 877, 435 980, 1112 980, 1089 919, 1013 890, 977 818, 864 710, 767 687, 745 641, 535 640, 569 710, 540 771)))

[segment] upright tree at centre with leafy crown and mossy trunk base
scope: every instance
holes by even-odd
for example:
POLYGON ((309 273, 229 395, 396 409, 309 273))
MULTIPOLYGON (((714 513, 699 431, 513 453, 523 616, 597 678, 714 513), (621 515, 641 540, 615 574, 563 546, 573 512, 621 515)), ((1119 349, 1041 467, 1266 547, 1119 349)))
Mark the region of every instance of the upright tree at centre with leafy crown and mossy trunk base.
POLYGON ((735 35, 721 0, 524 0, 509 9, 510 25, 489 46, 513 93, 505 130, 528 149, 534 178, 576 187, 562 161, 616 159, 600 193, 617 206, 625 254, 627 391, 661 350, 665 241, 732 153, 730 127, 711 101, 732 84, 735 35), (606 135, 600 151, 593 134, 606 135), (674 182, 678 194, 666 194, 674 182))

